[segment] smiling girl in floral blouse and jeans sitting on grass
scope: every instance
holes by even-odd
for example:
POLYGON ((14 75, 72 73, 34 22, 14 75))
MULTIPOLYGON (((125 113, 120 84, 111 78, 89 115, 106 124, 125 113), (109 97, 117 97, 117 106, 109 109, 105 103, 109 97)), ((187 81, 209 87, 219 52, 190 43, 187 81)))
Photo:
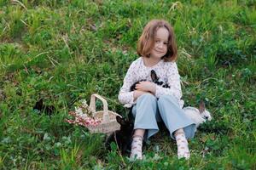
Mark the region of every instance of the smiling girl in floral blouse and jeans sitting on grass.
POLYGON ((131 158, 143 159, 143 139, 149 139, 159 131, 161 120, 168 128, 171 138, 177 142, 178 158, 189 158, 187 139, 195 134, 195 122, 183 113, 180 76, 177 71, 177 45, 174 32, 165 20, 151 20, 143 30, 137 43, 137 54, 128 69, 123 87, 119 91, 119 102, 132 106, 135 116, 131 158), (150 72, 166 82, 163 88, 152 82, 150 72), (139 82, 146 80, 143 82, 139 82), (130 91, 136 83, 136 90, 130 91))

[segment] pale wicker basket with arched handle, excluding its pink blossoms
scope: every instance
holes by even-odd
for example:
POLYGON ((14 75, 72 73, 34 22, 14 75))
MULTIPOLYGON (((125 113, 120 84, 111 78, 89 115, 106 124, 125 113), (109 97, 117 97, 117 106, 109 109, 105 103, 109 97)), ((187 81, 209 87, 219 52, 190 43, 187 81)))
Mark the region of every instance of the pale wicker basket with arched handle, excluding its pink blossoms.
MULTIPOLYGON (((120 129, 119 123, 116 121, 116 116, 119 114, 108 111, 108 103, 106 99, 103 99, 99 94, 92 94, 90 96, 90 111, 92 116, 100 119, 102 122, 96 126, 88 126, 90 133, 112 133, 115 130, 120 129), (96 111, 96 98, 100 99, 103 103, 103 111, 96 111)), ((122 117, 122 116, 120 116, 122 117)))

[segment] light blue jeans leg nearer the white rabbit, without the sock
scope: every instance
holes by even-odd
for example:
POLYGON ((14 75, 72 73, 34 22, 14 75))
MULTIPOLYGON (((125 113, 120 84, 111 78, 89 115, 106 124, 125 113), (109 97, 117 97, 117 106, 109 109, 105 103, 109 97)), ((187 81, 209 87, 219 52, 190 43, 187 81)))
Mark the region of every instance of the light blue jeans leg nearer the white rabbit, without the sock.
POLYGON ((195 122, 189 119, 178 105, 178 101, 171 95, 162 95, 158 99, 160 116, 168 128, 171 138, 175 139, 174 132, 183 128, 187 139, 195 135, 195 122))

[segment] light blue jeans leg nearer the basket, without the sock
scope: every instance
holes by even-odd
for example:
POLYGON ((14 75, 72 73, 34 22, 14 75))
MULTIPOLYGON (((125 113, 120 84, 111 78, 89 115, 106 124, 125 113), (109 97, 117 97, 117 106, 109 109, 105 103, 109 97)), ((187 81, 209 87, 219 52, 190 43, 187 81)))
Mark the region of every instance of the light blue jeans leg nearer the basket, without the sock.
POLYGON ((157 99, 152 94, 143 94, 137 99, 137 105, 132 108, 132 115, 135 117, 134 129, 145 129, 144 139, 149 139, 159 131, 157 121, 160 115, 157 106, 157 99))

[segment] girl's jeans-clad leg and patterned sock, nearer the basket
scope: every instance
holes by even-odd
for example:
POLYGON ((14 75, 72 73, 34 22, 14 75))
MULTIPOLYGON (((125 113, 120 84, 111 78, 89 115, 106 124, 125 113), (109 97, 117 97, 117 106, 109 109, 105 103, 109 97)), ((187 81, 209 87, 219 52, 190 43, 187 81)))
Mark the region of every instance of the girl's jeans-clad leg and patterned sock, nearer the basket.
POLYGON ((135 116, 135 131, 131 143, 131 158, 143 159, 143 137, 148 139, 159 130, 156 113, 157 99, 154 95, 143 94, 137 99, 137 105, 132 108, 132 114, 135 116))

